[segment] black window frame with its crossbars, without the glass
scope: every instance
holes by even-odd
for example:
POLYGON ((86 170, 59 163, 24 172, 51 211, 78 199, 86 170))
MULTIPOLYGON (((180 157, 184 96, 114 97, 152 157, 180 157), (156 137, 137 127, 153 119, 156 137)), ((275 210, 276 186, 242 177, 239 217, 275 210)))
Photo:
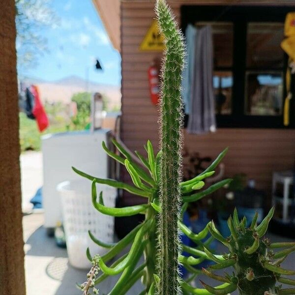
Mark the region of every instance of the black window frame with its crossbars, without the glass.
MULTIPOLYGON (((285 22, 288 12, 294 8, 288 6, 222 6, 222 5, 182 5, 181 29, 184 34, 188 24, 196 22, 231 22, 233 23, 233 65, 232 67, 216 67, 214 71, 233 72, 232 88, 232 113, 229 115, 216 115, 218 127, 229 128, 295 128, 295 103, 290 104, 290 124, 283 124, 282 114, 278 116, 247 115, 245 112, 245 78, 246 78, 246 51, 247 51, 247 24, 250 22, 285 22), (237 99, 239 97, 239 99, 237 99)), ((267 70, 283 70, 283 102, 286 98, 285 73, 288 56, 284 54, 283 68, 267 70)), ((265 68, 253 68, 251 70, 263 71, 265 68)), ((294 99, 295 100, 295 99, 294 99)), ((292 100, 291 100, 292 101, 292 100)))

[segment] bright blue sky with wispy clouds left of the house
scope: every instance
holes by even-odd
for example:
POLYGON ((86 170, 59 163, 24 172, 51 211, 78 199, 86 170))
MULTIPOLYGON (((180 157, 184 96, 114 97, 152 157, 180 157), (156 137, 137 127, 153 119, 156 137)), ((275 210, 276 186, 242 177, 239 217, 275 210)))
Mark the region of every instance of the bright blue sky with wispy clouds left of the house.
POLYGON ((35 68, 19 73, 46 81, 75 75, 103 84, 120 84, 120 56, 113 48, 91 0, 52 0, 59 22, 43 29, 48 53, 35 68), (98 59, 103 71, 94 67, 98 59))

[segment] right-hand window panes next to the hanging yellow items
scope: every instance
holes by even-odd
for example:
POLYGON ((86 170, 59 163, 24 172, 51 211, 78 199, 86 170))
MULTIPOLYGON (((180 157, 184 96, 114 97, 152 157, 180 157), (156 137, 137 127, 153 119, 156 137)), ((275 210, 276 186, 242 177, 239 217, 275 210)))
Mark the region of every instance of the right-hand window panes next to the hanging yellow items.
POLYGON ((282 23, 247 24, 246 115, 280 116, 283 102, 284 38, 282 23))

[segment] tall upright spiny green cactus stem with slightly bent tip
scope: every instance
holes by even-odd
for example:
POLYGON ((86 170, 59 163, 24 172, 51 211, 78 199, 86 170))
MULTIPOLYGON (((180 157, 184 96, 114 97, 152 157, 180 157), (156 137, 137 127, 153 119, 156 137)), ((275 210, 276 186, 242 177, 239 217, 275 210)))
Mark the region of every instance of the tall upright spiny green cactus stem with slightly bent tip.
POLYGON ((162 68, 160 103, 160 204, 159 220, 158 294, 179 294, 178 253, 179 237, 177 222, 180 203, 180 161, 182 101, 180 96, 181 71, 184 48, 182 35, 165 0, 157 0, 156 15, 166 43, 162 68))

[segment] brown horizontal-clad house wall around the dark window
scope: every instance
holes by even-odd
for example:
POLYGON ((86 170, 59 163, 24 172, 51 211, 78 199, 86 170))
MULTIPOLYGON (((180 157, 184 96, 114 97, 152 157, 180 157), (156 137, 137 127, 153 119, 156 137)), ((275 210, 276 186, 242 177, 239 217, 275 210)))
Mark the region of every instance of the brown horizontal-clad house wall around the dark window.
MULTIPOLYGON (((179 20, 181 1, 170 1, 179 20)), ((182 1, 213 4, 229 1, 182 1)), ((231 1, 232 2, 232 1, 231 1)), ((243 1, 241 4, 266 3, 243 1)), ((270 3, 269 1, 267 1, 270 3)), ((291 3, 291 1, 281 1, 291 3)), ((276 3, 277 4, 277 3, 276 3)), ((121 137, 131 150, 144 152, 147 139, 157 146, 157 109, 150 102, 148 67, 158 52, 140 52, 139 46, 154 18, 153 1, 121 2, 122 121, 121 137)), ((295 130, 221 128, 202 136, 185 132, 184 145, 201 156, 215 157, 229 147, 226 174, 245 173, 257 187, 270 191, 272 171, 291 169, 295 156, 295 130)), ((128 176, 124 176, 126 180, 128 176)))

